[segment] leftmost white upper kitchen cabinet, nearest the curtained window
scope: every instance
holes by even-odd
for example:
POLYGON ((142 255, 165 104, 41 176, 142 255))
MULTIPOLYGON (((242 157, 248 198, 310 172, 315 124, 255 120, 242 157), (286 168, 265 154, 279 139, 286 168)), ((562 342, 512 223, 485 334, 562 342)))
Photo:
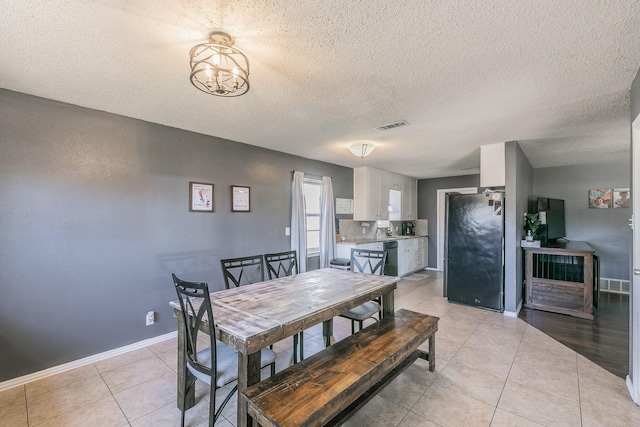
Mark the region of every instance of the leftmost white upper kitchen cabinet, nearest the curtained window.
POLYGON ((353 170, 353 219, 377 221, 389 217, 389 177, 370 167, 353 170))

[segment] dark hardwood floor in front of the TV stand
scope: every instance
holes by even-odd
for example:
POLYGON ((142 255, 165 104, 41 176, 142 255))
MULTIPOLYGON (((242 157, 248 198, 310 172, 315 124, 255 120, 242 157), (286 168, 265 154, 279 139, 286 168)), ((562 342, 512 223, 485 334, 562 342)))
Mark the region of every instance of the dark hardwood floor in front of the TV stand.
POLYGON ((522 308, 518 317, 609 372, 629 372, 629 295, 600 293, 595 319, 522 308))

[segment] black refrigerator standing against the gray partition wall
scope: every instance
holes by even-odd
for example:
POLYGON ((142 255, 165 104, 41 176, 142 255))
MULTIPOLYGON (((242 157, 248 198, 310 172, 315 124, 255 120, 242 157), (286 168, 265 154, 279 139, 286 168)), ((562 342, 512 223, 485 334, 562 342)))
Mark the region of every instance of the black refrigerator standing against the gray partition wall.
POLYGON ((444 295, 450 302, 504 311, 504 197, 448 194, 444 295))

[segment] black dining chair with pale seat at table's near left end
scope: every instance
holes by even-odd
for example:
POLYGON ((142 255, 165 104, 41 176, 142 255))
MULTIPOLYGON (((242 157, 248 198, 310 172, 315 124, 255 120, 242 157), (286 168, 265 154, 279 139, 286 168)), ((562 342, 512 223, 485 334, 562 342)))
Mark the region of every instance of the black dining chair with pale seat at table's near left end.
MULTIPOLYGON (((180 280, 175 274, 173 284, 178 294, 180 311, 182 316, 184 343, 182 345, 185 365, 182 368, 188 369, 193 377, 187 381, 186 376, 182 387, 182 416, 180 425, 184 427, 186 396, 191 388, 195 387, 196 380, 209 384, 209 426, 213 427, 215 421, 220 417, 222 410, 227 405, 238 385, 225 396, 224 401, 216 411, 216 390, 238 379, 238 353, 231 347, 218 342, 215 334, 215 319, 211 307, 211 297, 209 287, 206 283, 186 282, 180 280), (203 325, 204 324, 204 325, 203 325), (206 332, 208 347, 198 349, 202 344, 198 341, 198 333, 203 327, 206 332)), ((260 367, 271 365, 271 372, 275 371, 276 354, 268 348, 260 351, 260 367)))

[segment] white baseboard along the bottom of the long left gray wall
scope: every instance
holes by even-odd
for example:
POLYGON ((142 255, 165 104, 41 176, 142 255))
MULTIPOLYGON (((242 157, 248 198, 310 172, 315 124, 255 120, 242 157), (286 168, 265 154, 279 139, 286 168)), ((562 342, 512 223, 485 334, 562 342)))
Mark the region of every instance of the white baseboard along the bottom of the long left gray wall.
POLYGON ((104 353, 94 354, 93 356, 85 357, 83 359, 74 360, 73 362, 65 363, 62 365, 54 366, 43 371, 34 372, 32 374, 23 375, 18 378, 3 381, 0 383, 0 391, 7 390, 13 387, 24 385, 32 381, 40 380, 42 378, 50 377, 62 372, 70 371, 72 369, 79 368, 81 366, 89 365, 91 363, 99 362, 110 357, 119 356, 124 353, 128 353, 133 350, 148 347, 153 344, 157 344, 162 341, 166 341, 172 338, 176 338, 178 332, 169 332, 168 334, 160 335, 157 337, 149 338, 146 340, 138 341, 133 344, 126 345, 124 347, 114 348, 113 350, 105 351, 104 353))

